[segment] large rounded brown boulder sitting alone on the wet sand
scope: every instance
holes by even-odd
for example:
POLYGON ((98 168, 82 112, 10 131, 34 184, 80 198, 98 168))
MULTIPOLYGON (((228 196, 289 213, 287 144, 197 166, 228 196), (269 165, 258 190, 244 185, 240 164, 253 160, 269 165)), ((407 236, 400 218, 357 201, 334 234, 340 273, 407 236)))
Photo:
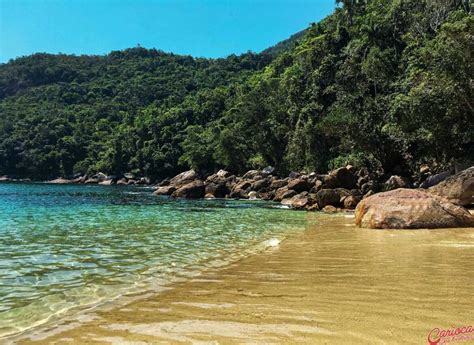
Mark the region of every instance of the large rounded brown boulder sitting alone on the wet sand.
POLYGON ((424 190, 400 188, 363 199, 355 222, 373 229, 457 228, 473 227, 474 216, 424 190))

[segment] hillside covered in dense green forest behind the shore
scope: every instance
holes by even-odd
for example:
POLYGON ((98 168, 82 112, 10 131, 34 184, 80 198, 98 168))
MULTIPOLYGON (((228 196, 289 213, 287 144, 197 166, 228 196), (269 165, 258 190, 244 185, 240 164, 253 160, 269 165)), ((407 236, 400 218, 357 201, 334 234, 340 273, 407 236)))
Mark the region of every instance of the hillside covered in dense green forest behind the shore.
POLYGON ((346 163, 410 174, 472 160, 469 1, 340 2, 273 55, 134 48, 0 65, 0 175, 346 163))

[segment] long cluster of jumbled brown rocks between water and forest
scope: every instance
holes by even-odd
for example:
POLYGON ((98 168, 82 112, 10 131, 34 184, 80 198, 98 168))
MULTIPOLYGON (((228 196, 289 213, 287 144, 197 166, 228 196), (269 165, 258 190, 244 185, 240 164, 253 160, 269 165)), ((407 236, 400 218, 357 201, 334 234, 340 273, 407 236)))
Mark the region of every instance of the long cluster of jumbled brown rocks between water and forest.
POLYGON ((274 175, 275 169, 250 170, 243 176, 220 170, 206 178, 194 170, 183 172, 159 184, 157 195, 176 198, 233 198, 273 200, 294 209, 336 212, 354 209, 362 198, 400 187, 409 182, 392 176, 385 183, 374 181, 365 170, 342 167, 328 174, 301 174, 288 177, 274 175))

